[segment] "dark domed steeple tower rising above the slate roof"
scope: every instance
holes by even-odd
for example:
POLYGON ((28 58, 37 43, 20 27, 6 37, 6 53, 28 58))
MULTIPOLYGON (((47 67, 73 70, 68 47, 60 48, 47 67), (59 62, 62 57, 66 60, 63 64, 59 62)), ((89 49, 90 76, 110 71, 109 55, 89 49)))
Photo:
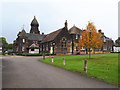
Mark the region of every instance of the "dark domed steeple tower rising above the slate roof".
POLYGON ((35 16, 34 16, 34 19, 32 20, 30 25, 31 25, 30 33, 32 33, 32 34, 40 34, 40 31, 38 29, 39 23, 38 23, 35 16))

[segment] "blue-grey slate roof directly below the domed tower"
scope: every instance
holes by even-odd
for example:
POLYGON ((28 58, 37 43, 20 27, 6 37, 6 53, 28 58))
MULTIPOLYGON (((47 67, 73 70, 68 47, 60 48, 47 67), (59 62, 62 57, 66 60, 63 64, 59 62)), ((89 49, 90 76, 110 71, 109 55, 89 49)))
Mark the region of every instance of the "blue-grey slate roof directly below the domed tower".
POLYGON ((41 41, 41 40, 43 40, 43 38, 45 37, 45 35, 31 34, 31 33, 27 33, 27 35, 28 35, 28 40, 41 41))

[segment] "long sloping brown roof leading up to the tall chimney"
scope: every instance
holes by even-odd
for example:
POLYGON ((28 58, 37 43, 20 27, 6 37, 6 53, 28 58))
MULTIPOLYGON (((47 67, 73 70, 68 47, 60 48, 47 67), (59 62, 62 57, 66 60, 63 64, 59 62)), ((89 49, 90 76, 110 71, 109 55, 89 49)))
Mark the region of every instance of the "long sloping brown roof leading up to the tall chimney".
POLYGON ((50 34, 47 34, 47 36, 43 39, 43 41, 41 43, 44 42, 49 42, 52 41, 56 38, 56 36, 63 30, 64 28, 58 29, 50 34))

